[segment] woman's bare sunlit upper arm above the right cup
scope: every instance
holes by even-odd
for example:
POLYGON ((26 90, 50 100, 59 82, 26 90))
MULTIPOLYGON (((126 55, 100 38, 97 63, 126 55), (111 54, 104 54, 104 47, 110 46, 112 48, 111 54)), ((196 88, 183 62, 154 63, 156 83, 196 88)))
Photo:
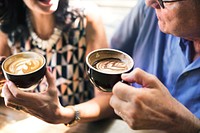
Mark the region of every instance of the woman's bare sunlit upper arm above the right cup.
POLYGON ((86 54, 92 50, 108 47, 105 27, 96 4, 87 3, 86 13, 86 54))

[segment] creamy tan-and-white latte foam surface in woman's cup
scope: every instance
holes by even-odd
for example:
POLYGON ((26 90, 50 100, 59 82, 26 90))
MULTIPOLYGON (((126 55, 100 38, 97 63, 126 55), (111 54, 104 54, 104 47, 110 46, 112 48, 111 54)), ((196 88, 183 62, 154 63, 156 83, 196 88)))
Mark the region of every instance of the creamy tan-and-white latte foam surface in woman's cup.
POLYGON ((7 67, 7 71, 12 74, 26 74, 37 70, 42 65, 39 59, 17 58, 13 60, 7 67))

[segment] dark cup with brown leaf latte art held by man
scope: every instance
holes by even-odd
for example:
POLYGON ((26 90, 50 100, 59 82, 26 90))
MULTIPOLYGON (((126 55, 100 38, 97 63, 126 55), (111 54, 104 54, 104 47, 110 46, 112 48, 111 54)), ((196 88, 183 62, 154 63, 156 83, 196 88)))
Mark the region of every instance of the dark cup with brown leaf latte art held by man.
POLYGON ((122 81, 121 75, 130 72, 133 59, 116 49, 97 49, 86 57, 87 73, 91 83, 104 92, 111 92, 113 86, 122 81))

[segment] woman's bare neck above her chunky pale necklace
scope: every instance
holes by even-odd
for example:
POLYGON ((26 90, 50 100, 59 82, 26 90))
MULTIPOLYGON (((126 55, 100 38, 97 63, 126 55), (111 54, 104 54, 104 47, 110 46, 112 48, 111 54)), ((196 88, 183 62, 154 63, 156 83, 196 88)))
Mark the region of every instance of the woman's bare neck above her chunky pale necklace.
POLYGON ((31 12, 29 15, 34 32, 41 39, 49 39, 55 27, 53 14, 44 15, 31 12))

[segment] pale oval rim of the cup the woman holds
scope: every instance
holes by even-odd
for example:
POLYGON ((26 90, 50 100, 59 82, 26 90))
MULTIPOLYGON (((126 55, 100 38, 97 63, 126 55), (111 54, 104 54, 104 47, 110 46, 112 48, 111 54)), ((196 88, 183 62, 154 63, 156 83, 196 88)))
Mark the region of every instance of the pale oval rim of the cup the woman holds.
POLYGON ((36 71, 38 71, 38 70, 40 70, 41 68, 43 68, 44 65, 46 65, 46 59, 45 59, 45 57, 44 57, 42 54, 37 53, 37 52, 32 52, 32 51, 26 51, 26 52, 16 53, 16 54, 13 54, 13 55, 7 57, 7 58, 3 61, 3 63, 1 64, 1 68, 2 68, 3 72, 6 72, 7 74, 10 74, 10 75, 13 75, 13 76, 23 76, 23 75, 29 75, 29 74, 35 73, 36 71), (36 70, 34 70, 34 71, 31 71, 31 72, 29 72, 29 73, 25 73, 25 74, 13 74, 13 73, 10 73, 10 72, 8 72, 7 70, 4 69, 4 64, 5 64, 5 62, 6 62, 7 60, 9 60, 10 58, 12 58, 12 57, 14 57, 14 56, 22 55, 22 54, 37 54, 37 55, 39 55, 40 57, 42 57, 43 64, 42 64, 38 69, 36 69, 36 70))

